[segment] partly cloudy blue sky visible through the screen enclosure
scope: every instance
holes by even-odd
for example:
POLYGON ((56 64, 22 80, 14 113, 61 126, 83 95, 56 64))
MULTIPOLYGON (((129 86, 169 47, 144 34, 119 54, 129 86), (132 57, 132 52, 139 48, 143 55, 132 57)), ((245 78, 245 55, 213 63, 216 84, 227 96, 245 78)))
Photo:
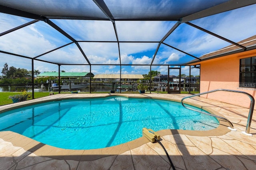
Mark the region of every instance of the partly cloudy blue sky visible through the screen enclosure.
MULTIPOLYGON (((221 35, 234 42, 256 35, 256 5, 208 16, 191 23, 221 35)), ((32 21, 28 18, 0 13, 0 33, 32 21)), ((51 20, 77 41, 116 41, 116 35, 111 21, 93 20, 51 20)), ((160 41, 172 28, 176 21, 116 21, 119 41, 160 41)), ((37 57, 60 46, 71 43, 71 40, 50 27, 43 21, 38 21, 12 33, 0 37, 0 50, 27 57, 37 57)), ((120 66, 108 64, 150 64, 158 43, 120 43, 120 58, 118 44, 78 42, 91 64, 107 64, 90 66, 69 66, 64 64, 88 64, 80 53, 77 45, 71 43, 52 53, 38 57, 53 63, 63 64, 60 70, 66 72, 92 72, 93 74, 148 74, 150 66, 120 66)), ((178 48, 186 53, 200 57, 230 45, 208 33, 204 33, 186 23, 174 30, 164 43, 178 48)), ((168 73, 168 66, 179 65, 194 60, 193 57, 160 45, 151 70, 162 74, 168 73)), ((8 66, 32 70, 31 59, 24 59, 0 53, 0 70, 8 66)), ((176 67, 176 66, 173 66, 176 67)), ((58 65, 34 61, 34 70, 40 72, 58 71, 58 65)), ((176 69, 175 69, 176 70, 176 69)), ((170 73, 178 75, 178 72, 170 73)), ((189 67, 182 66, 182 74, 189 75, 189 67)), ((193 69, 192 75, 199 75, 199 69, 193 69)))

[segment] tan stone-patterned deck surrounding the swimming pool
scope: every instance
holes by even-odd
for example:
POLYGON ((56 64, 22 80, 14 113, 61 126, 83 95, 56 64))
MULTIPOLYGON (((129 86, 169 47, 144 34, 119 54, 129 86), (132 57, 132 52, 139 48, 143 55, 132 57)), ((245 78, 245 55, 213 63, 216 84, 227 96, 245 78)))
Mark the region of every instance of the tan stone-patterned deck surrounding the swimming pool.
MULTIPOLYGON (((16 104, 0 106, 0 112, 10 107, 62 98, 92 98, 117 94, 57 94, 16 104)), ((180 101, 186 94, 121 94, 127 97, 158 98, 180 101)), ((210 131, 163 130, 161 143, 166 148, 176 170, 255 170, 256 169, 256 113, 252 117, 250 133, 245 131, 248 108, 234 106, 202 97, 186 102, 229 119, 228 124, 210 131)), ((255 112, 255 111, 254 111, 255 112)), ((97 139, 95 139, 95 142, 97 139)), ((92 150, 69 150, 51 147, 11 131, 0 132, 1 170, 171 170, 164 150, 146 137, 114 147, 92 150)))

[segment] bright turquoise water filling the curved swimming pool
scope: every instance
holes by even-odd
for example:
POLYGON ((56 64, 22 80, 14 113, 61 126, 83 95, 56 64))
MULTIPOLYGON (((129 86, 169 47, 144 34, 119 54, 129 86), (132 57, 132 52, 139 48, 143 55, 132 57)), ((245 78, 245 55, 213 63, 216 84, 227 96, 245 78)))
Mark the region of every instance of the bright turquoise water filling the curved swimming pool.
POLYGON ((178 102, 108 97, 47 102, 0 114, 0 131, 14 131, 64 149, 99 149, 142 137, 142 128, 210 130, 214 117, 178 102))

